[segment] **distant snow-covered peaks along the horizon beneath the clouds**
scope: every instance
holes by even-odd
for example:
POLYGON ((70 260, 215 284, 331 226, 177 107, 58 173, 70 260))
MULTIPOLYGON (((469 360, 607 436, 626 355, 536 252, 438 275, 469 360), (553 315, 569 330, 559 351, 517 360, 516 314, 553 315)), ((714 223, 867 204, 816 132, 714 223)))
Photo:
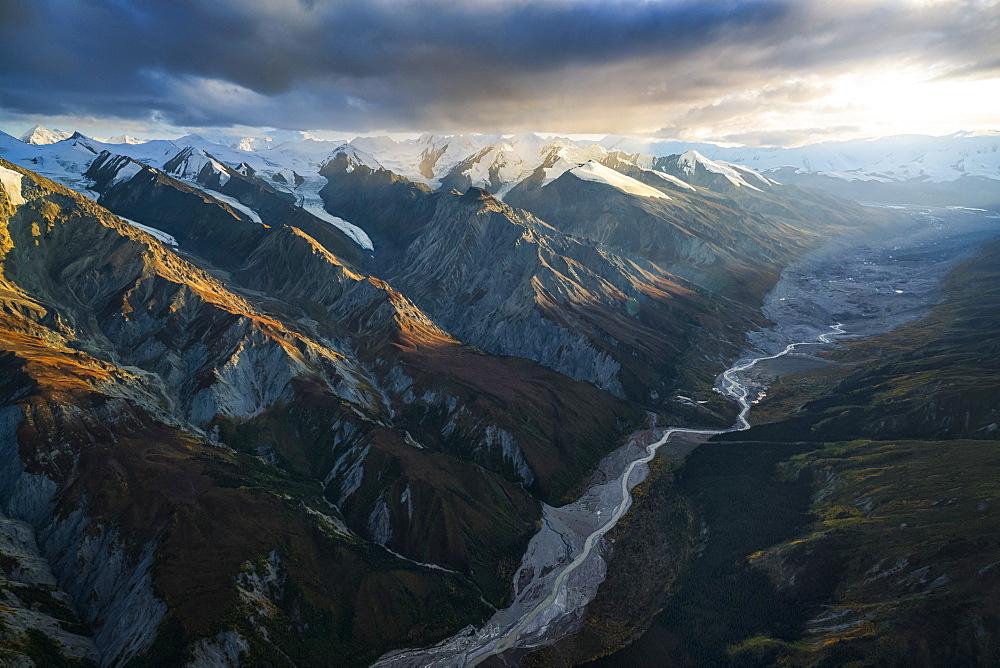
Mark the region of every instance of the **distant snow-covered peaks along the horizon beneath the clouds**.
MULTIPOLYGON (((36 126, 21 137, 31 144, 51 144, 70 133, 36 126)), ((252 151, 277 164, 302 166, 303 156, 324 156, 345 143, 373 156, 380 165, 432 188, 473 184, 501 199, 537 169, 543 181, 570 164, 601 161, 609 153, 644 168, 670 155, 695 151, 711 161, 749 167, 789 185, 824 190, 842 197, 880 204, 969 206, 995 209, 1000 181, 1000 135, 958 132, 943 137, 895 135, 879 139, 811 144, 796 148, 724 146, 609 135, 600 140, 572 140, 538 135, 432 135, 394 140, 357 137, 350 142, 323 141, 304 132, 273 131, 253 136, 212 134, 206 141, 252 151), (278 150, 275 150, 278 149, 278 150), (298 154, 298 158, 292 155, 298 154)), ((127 136, 105 140, 136 142, 127 136)), ((307 159, 307 158, 306 158, 307 159)), ((546 181, 547 182, 547 181, 546 181)))

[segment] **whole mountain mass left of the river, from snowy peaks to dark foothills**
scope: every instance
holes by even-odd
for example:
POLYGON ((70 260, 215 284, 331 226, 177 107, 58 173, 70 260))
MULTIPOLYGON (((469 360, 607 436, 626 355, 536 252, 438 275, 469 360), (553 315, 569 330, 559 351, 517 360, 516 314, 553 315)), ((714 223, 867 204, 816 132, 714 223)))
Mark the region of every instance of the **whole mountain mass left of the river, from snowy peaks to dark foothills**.
POLYGON ((366 665, 480 624, 650 414, 732 423, 784 267, 900 220, 702 148, 269 137, 0 134, 4 660, 366 665))

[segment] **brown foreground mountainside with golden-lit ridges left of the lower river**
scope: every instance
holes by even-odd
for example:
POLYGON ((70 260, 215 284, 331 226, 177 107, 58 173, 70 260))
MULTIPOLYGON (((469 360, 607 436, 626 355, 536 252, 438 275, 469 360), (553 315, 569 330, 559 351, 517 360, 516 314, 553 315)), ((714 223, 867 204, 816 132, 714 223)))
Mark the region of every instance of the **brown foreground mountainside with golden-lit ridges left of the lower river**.
MULTIPOLYGON (((3 512, 17 540, 4 549, 16 586, 4 591, 19 603, 4 622, 8 651, 309 664, 340 646, 358 662, 432 640, 475 621, 482 596, 506 595, 501 564, 516 560, 538 506, 505 477, 533 483, 526 457, 572 460, 545 453, 577 447, 572 429, 604 447, 616 415, 628 419, 596 388, 464 348, 296 228, 274 230, 243 275, 294 302, 306 286, 275 267, 260 278, 254 263, 276 249, 294 261, 288 246, 311 258, 312 271, 289 273, 325 277, 352 316, 291 321, 315 338, 90 201, 3 170, 3 512), (520 399, 522 419, 541 433, 525 436, 510 421, 532 384, 541 394, 520 399), (549 396, 578 396, 559 410, 579 411, 580 425, 554 424, 549 396), (425 434, 450 445, 431 449, 425 434), (335 573, 321 566, 331 560, 335 573), (25 581, 32 597, 18 594, 25 581), (18 631, 44 614, 76 635, 18 631)), ((321 308, 324 295, 308 292, 321 308)))

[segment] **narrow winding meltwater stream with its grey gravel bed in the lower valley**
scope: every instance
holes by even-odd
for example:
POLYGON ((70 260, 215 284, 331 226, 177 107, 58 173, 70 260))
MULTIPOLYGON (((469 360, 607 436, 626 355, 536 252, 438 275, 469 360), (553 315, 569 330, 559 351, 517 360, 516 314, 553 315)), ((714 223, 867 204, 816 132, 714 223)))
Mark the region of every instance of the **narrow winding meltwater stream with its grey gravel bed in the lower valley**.
MULTIPOLYGON (((482 629, 476 631, 470 627, 434 647, 391 653, 373 665, 380 668, 477 666, 491 657, 496 657, 494 661, 498 664, 507 664, 503 656, 506 652, 526 651, 558 640, 570 630, 568 627, 578 619, 604 579, 605 564, 595 558, 594 547, 632 505, 631 490, 644 477, 633 481, 636 469, 652 461, 657 450, 676 434, 714 436, 749 429, 747 415, 756 398, 751 398, 750 385, 740 379, 740 374, 760 362, 788 355, 802 346, 828 344, 833 337, 845 333, 841 323, 831 325, 830 329, 833 331, 821 334, 815 341, 792 343, 780 353, 754 357, 726 370, 720 377, 719 390, 740 406, 736 423, 729 429, 671 427, 658 441, 638 451, 623 446, 619 451, 626 451, 627 459, 616 462, 614 454, 619 453, 616 451, 602 462, 602 468, 607 467, 605 470, 609 473, 620 470, 620 474, 595 484, 574 503, 562 508, 546 506, 542 529, 529 544, 521 569, 515 575, 513 604, 498 611, 482 629), (611 514, 602 518, 612 504, 611 514), (591 524, 595 519, 596 525, 591 524), (582 536, 586 538, 581 547, 579 538, 582 536), (554 545, 561 549, 554 549, 554 545), (568 559, 577 549, 579 553, 568 559), (588 569, 591 572, 581 577, 581 572, 588 569), (527 584, 520 583, 522 576, 526 576, 527 584)), ((511 658, 511 663, 516 664, 517 657, 511 658)))

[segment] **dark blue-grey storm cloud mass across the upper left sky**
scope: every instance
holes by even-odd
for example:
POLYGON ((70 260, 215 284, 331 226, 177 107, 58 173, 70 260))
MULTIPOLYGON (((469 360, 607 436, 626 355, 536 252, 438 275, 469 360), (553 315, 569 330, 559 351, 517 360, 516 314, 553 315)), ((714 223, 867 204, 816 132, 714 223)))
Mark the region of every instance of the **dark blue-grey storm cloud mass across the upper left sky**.
POLYGON ((0 27, 0 58, 8 65, 0 104, 125 115, 149 106, 180 123, 233 121, 247 110, 177 108, 170 78, 228 81, 270 97, 302 92, 333 106, 324 114, 405 122, 428 102, 517 97, 522 76, 639 54, 676 57, 727 26, 766 24, 784 11, 759 1, 455 7, 426 0, 77 0, 10 7, 19 20, 0 27), (366 100, 367 109, 360 104, 366 100))

